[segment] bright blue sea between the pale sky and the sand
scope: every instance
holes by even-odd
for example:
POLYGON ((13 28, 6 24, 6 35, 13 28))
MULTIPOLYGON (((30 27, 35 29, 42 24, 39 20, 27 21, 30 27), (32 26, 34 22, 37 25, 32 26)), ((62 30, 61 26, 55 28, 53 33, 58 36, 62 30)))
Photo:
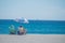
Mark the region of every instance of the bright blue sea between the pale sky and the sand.
POLYGON ((29 20, 25 24, 13 19, 0 19, 0 34, 9 34, 11 25, 14 25, 16 30, 23 26, 27 33, 32 34, 65 34, 65 20, 29 20))

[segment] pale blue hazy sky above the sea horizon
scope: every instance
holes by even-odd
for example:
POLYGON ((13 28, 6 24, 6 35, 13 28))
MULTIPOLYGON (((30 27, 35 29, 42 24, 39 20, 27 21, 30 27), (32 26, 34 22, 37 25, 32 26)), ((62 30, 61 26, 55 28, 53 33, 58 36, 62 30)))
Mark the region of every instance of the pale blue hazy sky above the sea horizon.
POLYGON ((65 0, 0 0, 0 19, 65 20, 65 0))

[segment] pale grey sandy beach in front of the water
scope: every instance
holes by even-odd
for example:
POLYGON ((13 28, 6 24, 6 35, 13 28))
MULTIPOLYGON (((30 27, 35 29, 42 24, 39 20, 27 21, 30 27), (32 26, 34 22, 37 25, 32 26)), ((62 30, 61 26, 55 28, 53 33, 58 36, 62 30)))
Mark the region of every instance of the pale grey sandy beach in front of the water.
POLYGON ((0 43, 65 43, 65 34, 0 34, 0 43))

